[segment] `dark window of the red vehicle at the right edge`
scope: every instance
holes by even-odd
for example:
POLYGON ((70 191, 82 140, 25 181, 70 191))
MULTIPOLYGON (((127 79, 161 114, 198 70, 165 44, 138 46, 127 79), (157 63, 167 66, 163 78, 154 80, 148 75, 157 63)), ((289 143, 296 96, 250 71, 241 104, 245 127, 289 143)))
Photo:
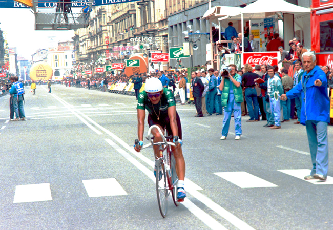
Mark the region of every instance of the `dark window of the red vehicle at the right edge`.
POLYGON ((320 23, 320 51, 333 51, 333 20, 320 23))

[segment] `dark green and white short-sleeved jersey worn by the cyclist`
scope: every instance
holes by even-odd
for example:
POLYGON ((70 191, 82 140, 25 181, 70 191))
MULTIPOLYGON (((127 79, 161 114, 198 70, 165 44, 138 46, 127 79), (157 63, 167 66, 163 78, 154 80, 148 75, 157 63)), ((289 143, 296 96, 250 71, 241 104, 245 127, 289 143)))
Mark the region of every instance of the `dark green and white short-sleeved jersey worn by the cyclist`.
POLYGON ((136 109, 146 109, 152 119, 157 119, 158 117, 161 119, 168 116, 168 108, 171 106, 176 106, 174 95, 169 89, 163 88, 161 100, 157 104, 153 104, 147 93, 142 91, 138 96, 138 106, 136 109))

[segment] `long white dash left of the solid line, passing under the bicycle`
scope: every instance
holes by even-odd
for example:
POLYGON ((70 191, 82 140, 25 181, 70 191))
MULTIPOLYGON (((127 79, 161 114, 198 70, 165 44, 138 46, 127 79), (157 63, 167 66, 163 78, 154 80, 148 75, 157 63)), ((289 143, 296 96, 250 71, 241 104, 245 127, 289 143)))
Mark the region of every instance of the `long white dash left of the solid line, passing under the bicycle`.
MULTIPOLYGON (((128 154, 126 151, 121 149, 116 143, 114 143, 110 139, 105 139, 107 143, 109 143, 115 150, 117 150, 124 158, 126 158, 128 161, 130 161, 134 166, 136 166, 142 173, 147 175, 153 182, 156 181, 154 174, 151 170, 147 169, 145 166, 143 166, 139 161, 134 159, 130 154, 128 154)), ((202 211, 198 206, 196 206, 194 203, 192 203, 189 199, 185 199, 184 202, 182 202, 188 210, 193 213, 197 218, 199 218, 203 223, 205 223, 207 226, 209 226, 211 229, 226 229, 223 225, 221 225, 219 222, 217 222, 214 218, 212 218, 210 215, 202 211)))

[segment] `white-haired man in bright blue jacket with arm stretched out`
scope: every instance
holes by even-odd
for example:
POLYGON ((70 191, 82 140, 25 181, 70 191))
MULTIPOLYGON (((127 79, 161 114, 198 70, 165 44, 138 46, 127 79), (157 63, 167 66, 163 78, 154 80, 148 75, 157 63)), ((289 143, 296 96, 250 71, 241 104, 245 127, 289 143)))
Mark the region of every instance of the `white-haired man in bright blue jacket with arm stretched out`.
POLYGON ((316 65, 316 56, 311 52, 302 55, 305 73, 301 81, 281 100, 301 96, 301 124, 306 126, 313 168, 305 180, 320 179, 325 181, 328 171, 328 136, 329 99, 327 95, 327 78, 316 65))

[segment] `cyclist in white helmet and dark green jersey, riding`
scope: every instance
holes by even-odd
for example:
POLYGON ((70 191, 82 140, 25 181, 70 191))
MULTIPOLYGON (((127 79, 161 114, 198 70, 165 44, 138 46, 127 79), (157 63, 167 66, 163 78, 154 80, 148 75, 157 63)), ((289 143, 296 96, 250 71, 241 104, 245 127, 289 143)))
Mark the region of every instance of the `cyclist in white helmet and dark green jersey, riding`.
MULTIPOLYGON (((163 133, 164 127, 166 127, 168 135, 172 134, 174 137, 179 137, 178 145, 171 148, 175 157, 176 172, 179 179, 177 199, 178 201, 182 201, 186 197, 186 193, 184 190, 185 160, 181 150, 182 135, 180 118, 176 111, 176 102, 173 93, 169 89, 163 88, 161 81, 156 77, 147 80, 144 86, 144 91, 142 91, 138 96, 137 111, 139 147, 134 147, 137 152, 140 152, 143 145, 145 110, 149 113, 148 124, 150 127, 155 124, 163 133)), ((157 129, 153 129, 152 134, 155 137, 154 142, 163 141, 157 129)), ((159 152, 159 147, 158 145, 154 145, 153 148, 156 158, 156 154, 159 152)), ((156 168, 154 170, 154 175, 156 177, 156 168)))

